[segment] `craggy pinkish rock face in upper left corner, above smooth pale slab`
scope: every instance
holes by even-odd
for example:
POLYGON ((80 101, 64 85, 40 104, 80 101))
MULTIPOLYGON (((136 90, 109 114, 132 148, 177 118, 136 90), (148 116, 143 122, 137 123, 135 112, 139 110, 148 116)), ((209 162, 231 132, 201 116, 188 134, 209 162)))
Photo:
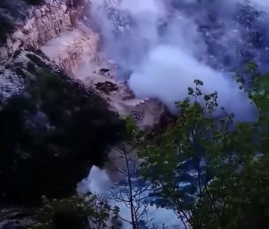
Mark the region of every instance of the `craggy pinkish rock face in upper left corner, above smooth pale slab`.
POLYGON ((21 7, 25 12, 22 11, 17 17, 6 16, 6 20, 14 20, 16 24, 14 33, 8 36, 6 44, 0 48, 0 62, 10 58, 20 46, 39 49, 61 32, 72 30, 80 14, 79 9, 67 7, 67 0, 46 0, 45 4, 35 7, 25 5, 20 0, 13 3, 14 6, 5 2, 0 7, 8 12, 7 15, 14 14, 12 7, 21 7))

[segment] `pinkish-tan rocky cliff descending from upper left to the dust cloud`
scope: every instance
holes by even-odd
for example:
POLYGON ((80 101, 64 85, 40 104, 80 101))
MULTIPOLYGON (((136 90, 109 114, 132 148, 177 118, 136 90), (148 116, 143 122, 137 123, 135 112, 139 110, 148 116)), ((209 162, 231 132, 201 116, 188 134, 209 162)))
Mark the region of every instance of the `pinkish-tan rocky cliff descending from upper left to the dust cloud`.
POLYGON ((151 129, 160 121, 165 107, 154 99, 134 99, 126 84, 117 82, 111 74, 115 65, 99 57, 99 35, 88 26, 89 1, 46 0, 30 6, 24 1, 4 0, 0 7, 1 17, 13 21, 0 47, 2 100, 23 90, 22 73, 29 69, 22 66, 30 61, 27 53, 35 52, 47 64, 95 90, 121 116, 131 115, 142 129, 151 129), (106 70, 108 74, 104 74, 106 70), (111 85, 113 90, 109 89, 111 85))

